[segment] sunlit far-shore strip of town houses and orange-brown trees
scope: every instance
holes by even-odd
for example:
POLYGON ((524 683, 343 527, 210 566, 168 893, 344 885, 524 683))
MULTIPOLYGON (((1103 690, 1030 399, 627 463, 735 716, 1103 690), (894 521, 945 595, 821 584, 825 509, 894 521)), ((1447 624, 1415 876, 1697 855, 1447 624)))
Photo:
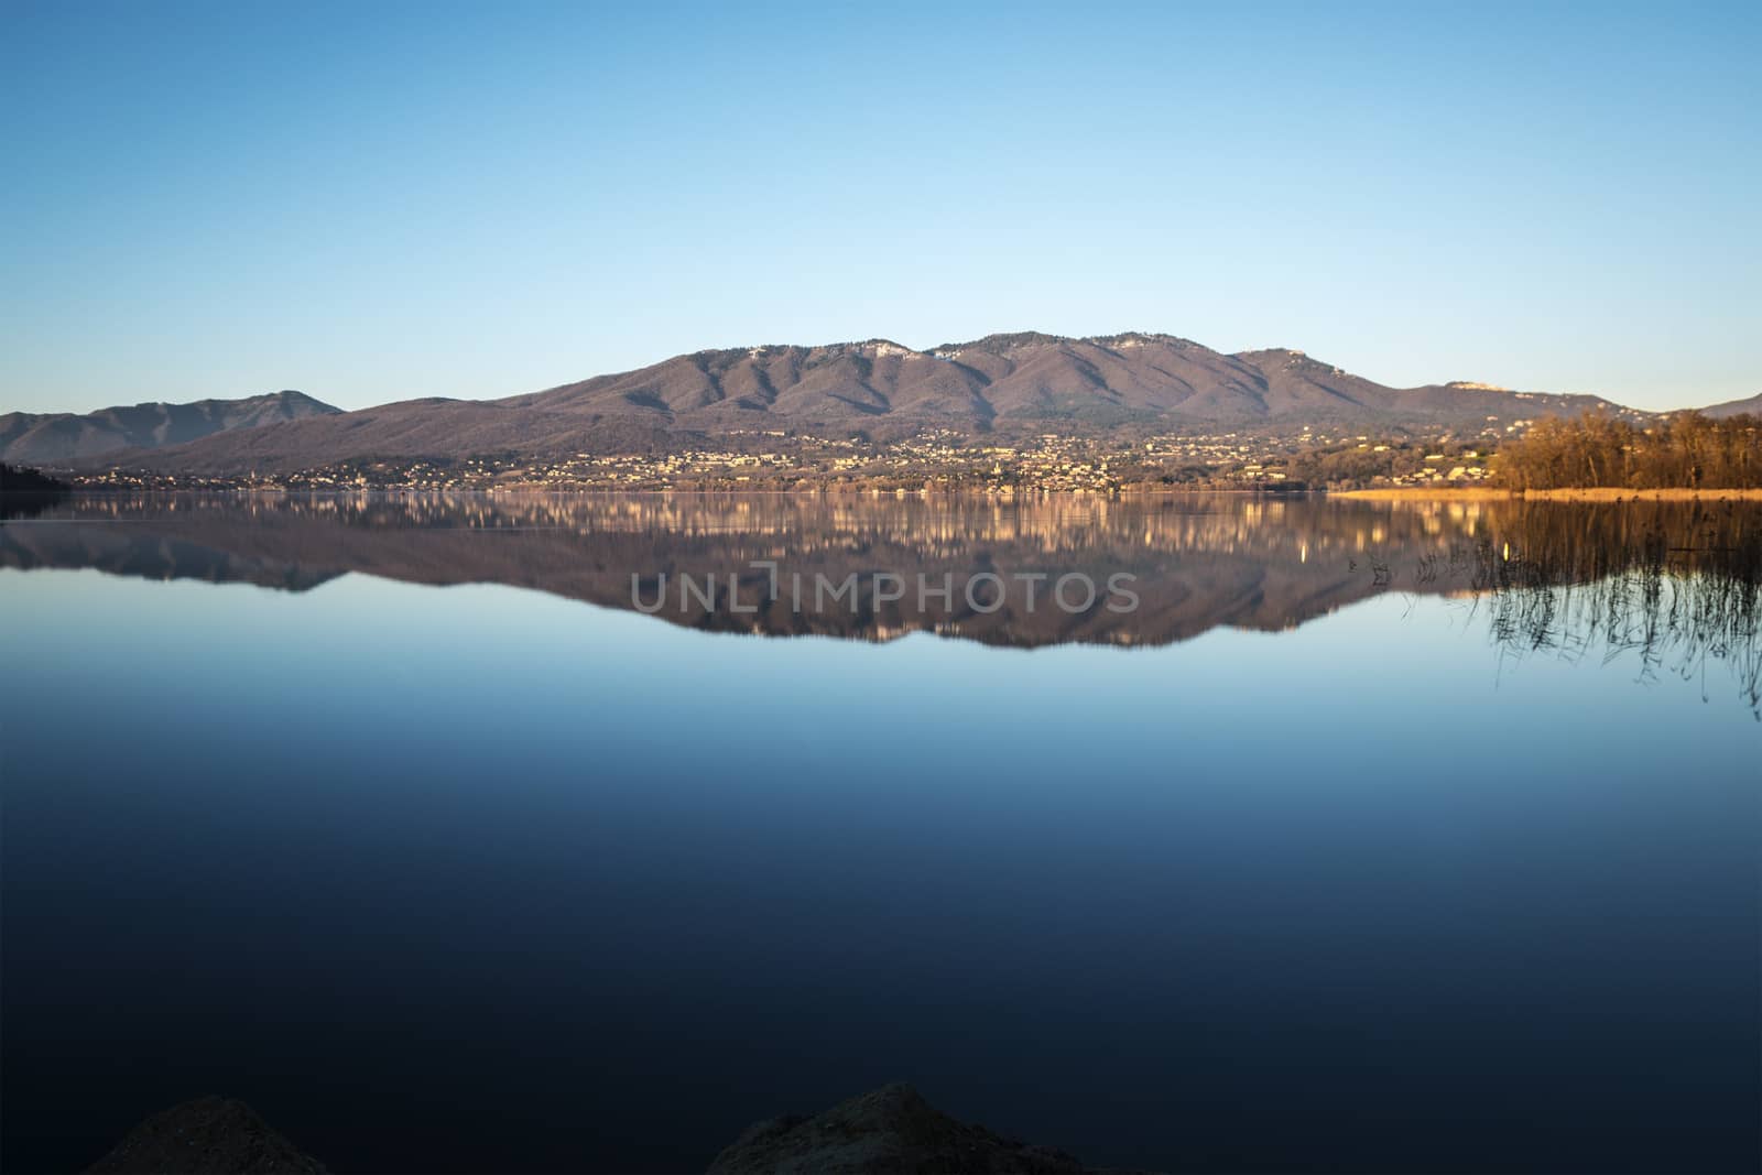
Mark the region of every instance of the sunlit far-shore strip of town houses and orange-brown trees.
MULTIPOLYGON (((701 447, 698 447, 701 446, 701 447)), ((1022 437, 922 430, 899 440, 733 430, 715 447, 652 453, 358 456, 292 472, 187 474, 164 467, 42 470, 85 490, 620 490, 869 493, 1755 491, 1762 426, 1748 414, 1542 418, 1429 433, 1304 426, 1284 433, 1022 437)), ((16 477, 18 474, 14 474, 16 477)))

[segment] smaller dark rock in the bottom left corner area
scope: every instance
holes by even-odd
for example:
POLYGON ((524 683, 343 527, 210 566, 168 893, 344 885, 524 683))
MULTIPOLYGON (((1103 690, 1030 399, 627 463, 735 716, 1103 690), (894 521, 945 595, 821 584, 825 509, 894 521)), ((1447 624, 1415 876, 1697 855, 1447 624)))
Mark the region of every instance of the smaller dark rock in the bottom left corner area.
POLYGON ((270 1129, 243 1101, 197 1097, 146 1119, 93 1175, 322 1175, 324 1164, 270 1129))

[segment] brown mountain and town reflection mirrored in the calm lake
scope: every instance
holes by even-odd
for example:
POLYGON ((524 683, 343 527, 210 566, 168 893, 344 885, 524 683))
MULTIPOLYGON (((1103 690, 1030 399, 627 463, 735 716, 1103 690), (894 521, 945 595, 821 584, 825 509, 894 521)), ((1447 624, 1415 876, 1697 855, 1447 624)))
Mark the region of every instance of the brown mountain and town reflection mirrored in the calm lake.
MULTIPOLYGON (((1457 520, 1471 534, 1475 521, 1457 520)), ((1283 629, 1403 576, 1392 550, 1436 546, 1431 523, 1387 509, 1320 500, 1246 497, 1103 500, 830 499, 830 497, 81 497, 53 516, 0 532, 0 564, 100 567, 146 578, 243 580, 308 588, 359 571, 411 583, 506 583, 611 608, 655 599, 666 576, 675 624, 766 634, 819 632, 885 639, 914 629, 996 645, 1166 643, 1216 625, 1283 629), (115 525, 97 525, 115 523, 115 525), (803 610, 788 592, 758 613, 726 601, 740 576, 740 606, 768 595, 772 560, 800 574, 803 610), (907 599, 874 599, 876 573, 902 576, 907 599), (1006 581, 1003 608, 964 602, 967 581, 1006 581), (1082 573, 1136 576, 1140 606, 1080 615, 1048 604, 1052 581, 1082 573), (849 597, 814 604, 816 578, 858 576, 849 597), (685 594, 717 580, 714 608, 685 594), (932 594, 918 610, 916 583, 932 594), (944 604, 934 588, 953 587, 944 604), (1027 580, 1047 576, 1031 608, 1027 580)), ((1459 528, 1461 528, 1459 527, 1459 528)), ((983 585, 981 602, 990 597, 983 585)), ((1068 595, 1080 601, 1078 592, 1068 595)))

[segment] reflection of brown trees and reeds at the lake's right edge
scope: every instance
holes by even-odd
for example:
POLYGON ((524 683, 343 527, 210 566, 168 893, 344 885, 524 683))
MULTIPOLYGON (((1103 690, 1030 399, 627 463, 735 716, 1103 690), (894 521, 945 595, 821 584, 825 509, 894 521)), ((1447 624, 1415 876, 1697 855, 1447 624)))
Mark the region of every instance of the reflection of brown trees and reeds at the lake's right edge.
POLYGON ((1762 511, 1517 502, 1471 558, 1501 650, 1633 655, 1642 676, 1721 661, 1762 719, 1762 511))

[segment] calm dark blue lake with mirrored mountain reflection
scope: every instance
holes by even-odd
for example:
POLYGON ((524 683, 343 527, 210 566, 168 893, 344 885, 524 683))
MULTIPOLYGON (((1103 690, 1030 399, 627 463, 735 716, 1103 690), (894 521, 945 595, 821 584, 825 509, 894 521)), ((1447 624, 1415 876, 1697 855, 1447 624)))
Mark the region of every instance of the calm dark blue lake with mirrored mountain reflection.
POLYGON ((1762 1166, 1755 506, 9 513, 7 1170, 1762 1166))

